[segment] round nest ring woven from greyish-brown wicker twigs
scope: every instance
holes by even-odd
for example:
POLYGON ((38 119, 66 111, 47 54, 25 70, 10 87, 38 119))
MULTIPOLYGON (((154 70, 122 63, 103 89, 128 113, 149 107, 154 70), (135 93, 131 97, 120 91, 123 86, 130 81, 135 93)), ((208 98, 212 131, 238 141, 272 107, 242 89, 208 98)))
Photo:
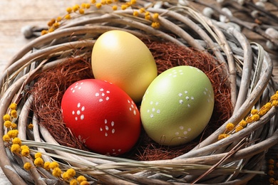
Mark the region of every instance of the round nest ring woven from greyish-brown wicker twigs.
MULTIPOLYGON (((24 163, 32 163, 34 152, 41 152, 45 162, 59 162, 63 170, 76 169, 91 184, 244 184, 261 173, 265 152, 278 141, 275 106, 240 132, 220 140, 218 136, 226 131, 227 123, 236 125, 276 93, 269 55, 230 24, 213 21, 187 6, 162 6, 148 11, 160 14, 160 28, 152 28, 151 22, 140 16, 134 17, 132 9, 92 11, 36 38, 12 58, 1 76, 1 115, 9 113, 11 102, 18 103, 18 137, 31 149, 30 157, 22 157, 1 142, 1 168, 12 184, 66 183, 39 166, 24 170, 24 163), (95 39, 113 29, 212 55, 223 67, 223 78, 229 79, 233 114, 200 144, 174 159, 135 161, 58 144, 38 122, 33 111, 34 97, 28 92, 41 73, 65 64, 68 58, 90 58, 95 39), (33 122, 32 131, 28 129, 29 122, 33 122)), ((7 131, 1 127, 1 136, 7 131)))

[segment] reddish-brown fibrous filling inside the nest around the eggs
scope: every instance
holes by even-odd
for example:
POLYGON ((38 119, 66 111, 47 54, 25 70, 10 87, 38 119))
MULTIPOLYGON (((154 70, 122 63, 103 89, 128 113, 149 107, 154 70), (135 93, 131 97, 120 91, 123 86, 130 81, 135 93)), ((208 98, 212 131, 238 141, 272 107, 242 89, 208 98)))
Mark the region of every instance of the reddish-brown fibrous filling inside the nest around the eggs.
MULTIPOLYGON (((212 134, 231 115, 230 86, 222 68, 210 54, 173 43, 144 41, 153 53, 158 74, 178 65, 192 65, 202 70, 212 83, 215 93, 215 107, 210 122, 199 137, 177 147, 162 146, 153 142, 142 130, 138 143, 123 157, 136 160, 173 159, 184 154, 212 134)), ((227 74, 226 74, 227 75, 227 74)), ((63 122, 61 99, 68 86, 78 80, 93 78, 90 58, 68 58, 67 63, 41 73, 31 93, 34 95, 34 113, 39 124, 48 129, 56 141, 64 146, 86 149, 83 143, 71 134, 63 122)), ((140 106, 140 105, 138 105, 140 106)))

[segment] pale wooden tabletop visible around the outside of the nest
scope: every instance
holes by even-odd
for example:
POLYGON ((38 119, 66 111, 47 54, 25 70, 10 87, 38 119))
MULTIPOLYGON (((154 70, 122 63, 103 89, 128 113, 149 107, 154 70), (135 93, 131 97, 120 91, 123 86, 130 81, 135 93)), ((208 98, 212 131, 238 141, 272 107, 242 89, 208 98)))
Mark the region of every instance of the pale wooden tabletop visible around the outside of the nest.
MULTIPOLYGON (((46 26, 51 18, 65 14, 66 7, 88 0, 1 0, 0 1, 0 73, 9 59, 31 39, 24 38, 24 26, 46 26), (47 3, 46 3, 47 2, 47 3)), ((256 34, 247 33, 250 41, 261 42, 256 34)), ((276 51, 277 52, 277 51, 276 51)), ((278 81, 278 54, 271 55, 274 63, 274 78, 278 81)), ((10 184, 0 169, 0 185, 10 184)), ((268 184, 268 183, 267 183, 268 184)))

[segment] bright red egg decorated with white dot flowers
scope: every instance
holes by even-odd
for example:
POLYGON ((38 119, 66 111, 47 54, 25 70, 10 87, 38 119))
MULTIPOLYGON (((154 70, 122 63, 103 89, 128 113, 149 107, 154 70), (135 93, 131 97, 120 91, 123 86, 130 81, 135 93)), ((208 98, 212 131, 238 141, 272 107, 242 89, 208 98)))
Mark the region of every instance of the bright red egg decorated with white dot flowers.
POLYGON ((140 114, 118 86, 103 80, 80 80, 61 102, 63 121, 88 149, 100 154, 128 152, 140 135, 140 114))

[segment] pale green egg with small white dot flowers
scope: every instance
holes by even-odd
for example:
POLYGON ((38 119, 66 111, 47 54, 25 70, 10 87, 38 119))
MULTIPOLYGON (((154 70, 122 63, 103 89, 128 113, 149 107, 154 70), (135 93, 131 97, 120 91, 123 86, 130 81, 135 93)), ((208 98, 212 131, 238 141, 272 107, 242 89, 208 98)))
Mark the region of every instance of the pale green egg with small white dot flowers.
POLYGON ((145 91, 140 117, 148 136, 175 146, 195 139, 210 121, 215 99, 200 69, 181 65, 158 75, 145 91))

